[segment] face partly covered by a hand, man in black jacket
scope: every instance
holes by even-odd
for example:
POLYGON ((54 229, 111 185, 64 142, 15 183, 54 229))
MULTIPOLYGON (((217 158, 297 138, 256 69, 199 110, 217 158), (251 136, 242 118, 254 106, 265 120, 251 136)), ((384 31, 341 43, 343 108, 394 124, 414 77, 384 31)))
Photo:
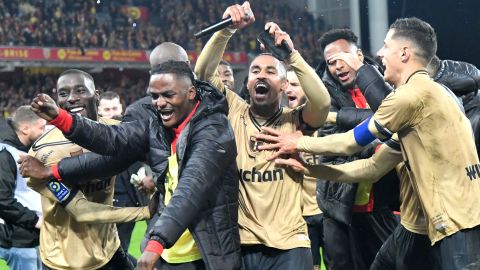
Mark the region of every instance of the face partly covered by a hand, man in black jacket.
MULTIPOLYGON (((345 39, 336 40, 325 46, 324 57, 325 59, 330 59, 332 55, 342 52, 352 53, 356 55, 360 61, 363 60, 363 55, 357 46, 350 44, 345 39)), ((355 86, 357 72, 343 60, 327 61, 327 67, 330 75, 344 88, 351 89, 355 86)))

